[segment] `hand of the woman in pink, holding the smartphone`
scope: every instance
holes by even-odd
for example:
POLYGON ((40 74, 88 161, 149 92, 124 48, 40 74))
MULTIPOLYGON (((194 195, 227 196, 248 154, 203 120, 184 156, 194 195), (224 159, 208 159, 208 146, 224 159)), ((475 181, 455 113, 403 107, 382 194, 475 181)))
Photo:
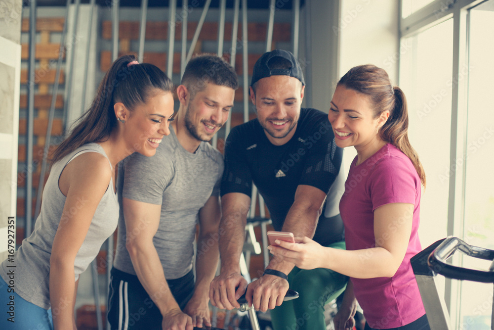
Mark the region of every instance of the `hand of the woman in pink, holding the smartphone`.
POLYGON ((268 249, 277 258, 291 262, 301 269, 319 268, 324 247, 309 237, 295 238, 295 243, 277 239, 277 245, 269 245, 268 249))

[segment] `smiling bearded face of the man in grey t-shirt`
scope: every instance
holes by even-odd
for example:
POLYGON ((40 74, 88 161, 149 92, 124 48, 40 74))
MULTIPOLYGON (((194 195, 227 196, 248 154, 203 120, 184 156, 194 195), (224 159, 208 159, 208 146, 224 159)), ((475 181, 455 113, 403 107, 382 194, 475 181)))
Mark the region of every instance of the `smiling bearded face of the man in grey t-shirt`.
POLYGON ((206 88, 187 101, 184 122, 190 136, 210 141, 226 123, 234 97, 232 88, 207 83, 206 88))

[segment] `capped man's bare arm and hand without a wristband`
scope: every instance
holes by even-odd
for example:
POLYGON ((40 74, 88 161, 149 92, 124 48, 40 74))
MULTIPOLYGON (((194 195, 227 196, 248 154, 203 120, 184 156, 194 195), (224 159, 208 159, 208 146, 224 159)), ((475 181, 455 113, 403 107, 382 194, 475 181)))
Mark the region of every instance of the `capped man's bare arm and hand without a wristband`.
POLYGON ((209 299, 214 306, 231 310, 240 308, 237 299, 247 281, 240 273, 240 255, 244 247, 250 197, 230 192, 221 197, 222 217, 219 227, 220 275, 210 285, 209 299))

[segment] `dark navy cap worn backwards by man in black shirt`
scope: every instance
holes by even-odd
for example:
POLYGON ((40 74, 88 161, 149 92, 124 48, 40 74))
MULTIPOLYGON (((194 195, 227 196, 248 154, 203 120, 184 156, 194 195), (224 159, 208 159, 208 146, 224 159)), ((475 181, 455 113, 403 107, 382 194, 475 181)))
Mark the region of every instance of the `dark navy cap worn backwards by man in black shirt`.
POLYGON ((302 68, 295 56, 288 50, 275 49, 272 51, 265 52, 261 57, 255 62, 254 69, 252 72, 252 80, 250 81, 250 86, 253 86, 258 80, 271 76, 289 76, 297 78, 305 85, 304 75, 302 73, 302 68), (274 57, 283 57, 291 63, 291 68, 289 69, 270 69, 268 66, 269 60, 274 57))

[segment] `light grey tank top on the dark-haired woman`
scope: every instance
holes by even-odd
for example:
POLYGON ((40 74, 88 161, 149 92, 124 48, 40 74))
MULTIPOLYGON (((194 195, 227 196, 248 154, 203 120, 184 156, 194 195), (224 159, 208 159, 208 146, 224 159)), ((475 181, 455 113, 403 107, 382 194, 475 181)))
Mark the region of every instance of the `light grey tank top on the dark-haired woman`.
MULTIPOLYGON (((58 227, 69 222, 85 203, 84 197, 81 196, 72 209, 63 213, 65 196, 58 187, 58 179, 65 166, 84 152, 98 152, 107 157, 99 144, 87 143, 53 164, 43 190, 41 212, 36 220, 33 234, 22 241, 21 246, 14 253, 14 262, 8 262, 7 259, 0 265, 0 276, 3 280, 8 283, 7 274, 13 271, 15 292, 23 299, 44 309, 50 308, 50 256, 55 233, 58 227)), ((115 232, 118 219, 119 203, 112 179, 96 208, 89 231, 76 255, 74 281, 79 279, 79 275, 96 257, 103 242, 115 232)))

